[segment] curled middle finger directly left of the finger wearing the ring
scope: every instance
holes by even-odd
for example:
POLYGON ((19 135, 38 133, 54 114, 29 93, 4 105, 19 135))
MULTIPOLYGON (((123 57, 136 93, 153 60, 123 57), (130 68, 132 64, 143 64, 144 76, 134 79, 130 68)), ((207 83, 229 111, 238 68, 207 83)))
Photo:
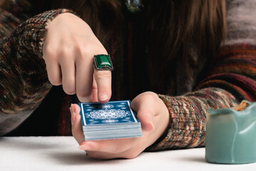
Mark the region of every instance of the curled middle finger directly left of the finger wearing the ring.
POLYGON ((76 62, 76 94, 81 102, 92 100, 93 59, 86 61, 79 58, 76 62))

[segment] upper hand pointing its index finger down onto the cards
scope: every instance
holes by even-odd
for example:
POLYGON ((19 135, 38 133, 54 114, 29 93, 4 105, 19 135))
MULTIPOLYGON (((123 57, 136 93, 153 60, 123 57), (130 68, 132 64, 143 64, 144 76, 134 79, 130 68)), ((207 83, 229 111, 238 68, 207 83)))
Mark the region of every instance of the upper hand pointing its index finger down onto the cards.
POLYGON ((111 98, 111 71, 93 71, 93 56, 108 54, 90 26, 71 13, 56 16, 43 44, 48 79, 78 99, 106 103, 111 98), (94 75, 94 77, 93 77, 94 75))

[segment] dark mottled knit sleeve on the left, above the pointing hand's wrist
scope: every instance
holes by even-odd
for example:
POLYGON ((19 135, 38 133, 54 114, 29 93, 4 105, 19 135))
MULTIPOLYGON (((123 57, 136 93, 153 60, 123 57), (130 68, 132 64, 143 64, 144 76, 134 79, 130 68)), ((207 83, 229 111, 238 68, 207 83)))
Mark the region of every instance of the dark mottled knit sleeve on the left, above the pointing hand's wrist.
POLYGON ((58 14, 68 12, 46 11, 24 20, 26 15, 19 12, 27 2, 12 2, 11 6, 0 9, 0 135, 28 118, 50 90, 41 58, 42 46, 48 23, 58 14))

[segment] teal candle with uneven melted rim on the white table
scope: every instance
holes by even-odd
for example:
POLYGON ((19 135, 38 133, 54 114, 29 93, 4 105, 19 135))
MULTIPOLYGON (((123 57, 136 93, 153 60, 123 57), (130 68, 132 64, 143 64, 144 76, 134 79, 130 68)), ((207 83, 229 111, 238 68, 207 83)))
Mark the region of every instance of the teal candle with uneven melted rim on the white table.
POLYGON ((256 102, 243 100, 235 109, 209 109, 205 159, 222 164, 256 162, 256 102))

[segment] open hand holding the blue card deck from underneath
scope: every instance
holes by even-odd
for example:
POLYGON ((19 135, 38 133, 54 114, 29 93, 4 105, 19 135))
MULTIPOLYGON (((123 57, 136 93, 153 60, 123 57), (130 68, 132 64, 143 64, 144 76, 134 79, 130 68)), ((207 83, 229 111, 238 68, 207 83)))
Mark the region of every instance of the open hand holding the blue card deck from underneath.
POLYGON ((86 150, 87 154, 94 158, 134 158, 158 140, 168 128, 170 118, 163 100, 155 93, 145 92, 134 98, 130 105, 140 120, 143 137, 94 141, 84 140, 80 108, 78 105, 71 105, 72 133, 80 149, 86 150))

